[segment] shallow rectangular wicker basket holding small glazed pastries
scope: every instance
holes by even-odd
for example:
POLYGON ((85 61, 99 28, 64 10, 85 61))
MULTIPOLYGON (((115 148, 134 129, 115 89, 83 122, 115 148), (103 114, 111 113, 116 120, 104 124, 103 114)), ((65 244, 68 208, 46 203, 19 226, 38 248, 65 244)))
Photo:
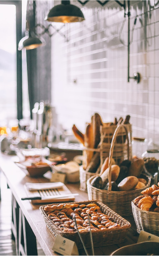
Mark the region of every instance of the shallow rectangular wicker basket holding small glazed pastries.
MULTIPOLYGON (((78 204, 89 204, 89 203, 96 203, 101 208, 101 211, 105 214, 108 214, 112 218, 113 221, 117 222, 121 225, 121 227, 117 227, 114 229, 108 230, 100 230, 92 232, 93 238, 93 245, 94 247, 111 245, 111 244, 118 244, 122 243, 125 240, 125 236, 127 233, 128 228, 131 227, 130 223, 119 216, 116 212, 113 212, 110 208, 100 202, 96 201, 85 201, 85 202, 77 202, 78 204)), ((61 235, 63 237, 68 238, 76 243, 78 249, 82 249, 83 245, 81 243, 80 237, 78 236, 77 232, 63 232, 58 228, 56 225, 52 223, 52 221, 48 218, 47 214, 44 211, 45 206, 40 207, 40 211, 42 214, 43 219, 46 222, 47 227, 49 228, 50 232, 56 237, 56 235, 61 235)), ((88 232, 81 233, 82 239, 86 247, 91 247, 90 235, 88 232)))

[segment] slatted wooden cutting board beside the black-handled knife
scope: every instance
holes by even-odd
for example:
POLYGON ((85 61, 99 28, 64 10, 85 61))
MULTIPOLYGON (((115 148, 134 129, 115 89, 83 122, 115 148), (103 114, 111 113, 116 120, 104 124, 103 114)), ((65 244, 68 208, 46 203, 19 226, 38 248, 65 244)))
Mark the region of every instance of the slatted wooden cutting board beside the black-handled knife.
POLYGON ((72 202, 75 200, 75 196, 71 195, 72 193, 69 191, 69 189, 64 185, 63 187, 60 188, 53 188, 53 189, 40 189, 37 191, 29 191, 27 189, 27 186, 24 185, 25 191, 27 192, 28 197, 33 197, 33 196, 45 196, 46 199, 41 199, 41 200, 31 200, 31 203, 33 204, 42 204, 42 203, 58 203, 58 202, 72 202), (70 194, 69 197, 60 197, 59 199, 47 199, 47 196, 54 196, 54 195, 66 195, 70 194))

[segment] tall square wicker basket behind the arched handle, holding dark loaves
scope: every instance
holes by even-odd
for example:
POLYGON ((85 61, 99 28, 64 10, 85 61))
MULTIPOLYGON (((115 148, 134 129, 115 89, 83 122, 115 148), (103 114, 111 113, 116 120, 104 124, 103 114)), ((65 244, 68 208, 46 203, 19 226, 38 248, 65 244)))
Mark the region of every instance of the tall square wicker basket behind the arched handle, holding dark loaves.
MULTIPOLYGON (((116 131, 117 126, 100 127, 101 143, 100 143, 100 160, 101 166, 109 156, 110 146, 113 138, 113 134, 116 131)), ((117 164, 120 164, 123 160, 131 159, 131 125, 120 125, 118 135, 113 147, 113 158, 117 164), (126 128, 126 129, 125 129, 126 128), (128 138, 128 141, 127 141, 128 138), (128 150, 129 147, 129 156, 128 150)))

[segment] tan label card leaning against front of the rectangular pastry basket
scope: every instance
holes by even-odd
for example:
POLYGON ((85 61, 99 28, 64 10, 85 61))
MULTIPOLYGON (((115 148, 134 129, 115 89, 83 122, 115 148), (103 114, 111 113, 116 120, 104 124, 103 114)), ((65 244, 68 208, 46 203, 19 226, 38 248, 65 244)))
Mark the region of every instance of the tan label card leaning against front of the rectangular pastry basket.
POLYGON ((52 247, 52 250, 65 256, 79 255, 75 242, 59 235, 56 236, 55 244, 52 247))

